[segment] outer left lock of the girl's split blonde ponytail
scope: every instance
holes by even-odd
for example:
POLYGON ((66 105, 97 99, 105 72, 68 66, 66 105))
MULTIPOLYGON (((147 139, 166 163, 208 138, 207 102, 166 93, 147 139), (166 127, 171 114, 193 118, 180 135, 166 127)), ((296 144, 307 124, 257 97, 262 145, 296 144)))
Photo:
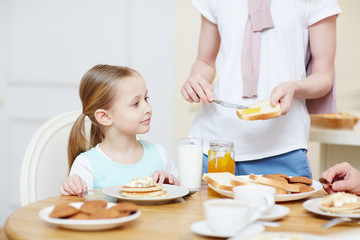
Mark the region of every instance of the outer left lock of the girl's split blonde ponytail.
POLYGON ((81 115, 76 119, 71 128, 68 141, 68 164, 69 172, 75 158, 82 152, 89 150, 89 143, 85 133, 85 115, 81 115))

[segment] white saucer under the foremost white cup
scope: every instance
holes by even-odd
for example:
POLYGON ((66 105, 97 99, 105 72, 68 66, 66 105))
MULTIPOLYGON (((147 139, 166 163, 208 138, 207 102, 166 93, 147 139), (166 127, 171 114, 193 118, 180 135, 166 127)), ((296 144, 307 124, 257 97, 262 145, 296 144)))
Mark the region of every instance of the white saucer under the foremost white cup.
MULTIPOLYGON (((191 224, 191 230, 194 233, 203 235, 203 236, 208 236, 208 237, 220 237, 220 238, 228 238, 231 237, 229 235, 224 235, 224 234, 219 234, 214 232, 212 229, 210 229, 205 221, 199 221, 199 222, 195 222, 193 224, 191 224)), ((253 223, 249 226, 247 226, 244 230, 242 230, 241 232, 238 232, 235 234, 235 236, 237 237, 251 237, 253 235, 262 233, 265 230, 264 226, 262 226, 259 223, 253 223)))

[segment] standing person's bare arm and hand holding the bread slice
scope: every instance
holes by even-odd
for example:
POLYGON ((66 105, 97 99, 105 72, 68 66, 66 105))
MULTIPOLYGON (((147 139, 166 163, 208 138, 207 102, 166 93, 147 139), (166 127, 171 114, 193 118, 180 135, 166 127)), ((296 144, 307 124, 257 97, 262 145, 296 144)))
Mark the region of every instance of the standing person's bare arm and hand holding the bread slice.
POLYGON ((271 104, 280 102, 283 115, 291 106, 293 98, 320 98, 325 96, 333 85, 336 52, 336 18, 325 18, 309 27, 312 56, 311 74, 301 81, 288 81, 280 84, 271 93, 271 104))

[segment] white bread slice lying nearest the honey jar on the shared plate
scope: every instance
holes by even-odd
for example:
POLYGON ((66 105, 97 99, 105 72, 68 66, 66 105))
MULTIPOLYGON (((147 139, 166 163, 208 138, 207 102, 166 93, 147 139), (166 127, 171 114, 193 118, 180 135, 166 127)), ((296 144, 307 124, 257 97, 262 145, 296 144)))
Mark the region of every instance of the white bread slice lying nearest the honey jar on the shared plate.
POLYGON ((202 179, 214 188, 227 191, 232 191, 238 185, 254 184, 229 172, 204 173, 202 179), (237 185, 234 185, 233 182, 237 185))

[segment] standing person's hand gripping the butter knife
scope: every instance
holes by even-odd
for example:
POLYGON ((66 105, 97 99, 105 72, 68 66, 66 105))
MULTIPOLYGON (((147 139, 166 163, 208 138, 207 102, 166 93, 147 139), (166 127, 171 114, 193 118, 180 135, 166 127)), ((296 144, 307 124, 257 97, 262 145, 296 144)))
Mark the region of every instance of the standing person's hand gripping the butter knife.
POLYGON ((213 86, 200 74, 190 76, 183 87, 181 88, 181 94, 188 102, 200 102, 209 104, 214 100, 213 86))

